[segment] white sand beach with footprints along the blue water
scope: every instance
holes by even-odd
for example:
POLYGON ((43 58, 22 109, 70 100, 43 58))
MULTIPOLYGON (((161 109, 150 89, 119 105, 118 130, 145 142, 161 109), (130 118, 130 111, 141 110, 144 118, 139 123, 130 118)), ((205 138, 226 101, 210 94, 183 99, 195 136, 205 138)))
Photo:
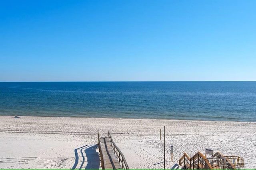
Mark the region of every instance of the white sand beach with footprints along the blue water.
POLYGON ((112 133, 130 169, 163 169, 164 126, 166 169, 178 163, 183 152, 193 156, 198 151, 204 154, 206 148, 256 165, 256 123, 0 116, 0 168, 95 168, 100 129, 102 137, 108 130, 112 133))

